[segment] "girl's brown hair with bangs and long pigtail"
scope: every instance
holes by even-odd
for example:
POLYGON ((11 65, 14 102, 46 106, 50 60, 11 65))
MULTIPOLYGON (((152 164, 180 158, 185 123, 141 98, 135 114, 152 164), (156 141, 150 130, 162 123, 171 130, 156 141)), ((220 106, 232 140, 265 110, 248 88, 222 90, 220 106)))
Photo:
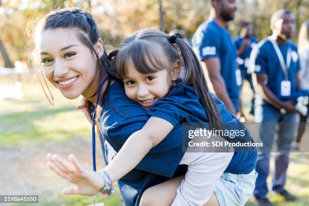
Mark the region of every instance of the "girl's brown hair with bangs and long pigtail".
POLYGON ((155 73, 163 69, 172 71, 177 62, 184 64, 184 79, 176 86, 192 83, 200 97, 201 105, 207 114, 211 128, 222 127, 221 116, 207 87, 204 73, 192 48, 180 38, 155 30, 142 29, 127 37, 117 52, 115 67, 123 78, 131 62, 143 74, 155 73))

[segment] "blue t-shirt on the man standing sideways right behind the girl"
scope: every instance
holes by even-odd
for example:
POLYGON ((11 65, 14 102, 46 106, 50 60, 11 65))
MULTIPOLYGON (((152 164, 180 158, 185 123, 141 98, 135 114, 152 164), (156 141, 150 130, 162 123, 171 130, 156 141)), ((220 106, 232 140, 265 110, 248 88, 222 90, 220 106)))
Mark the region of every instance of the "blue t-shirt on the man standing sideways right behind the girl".
POLYGON ((238 108, 238 86, 236 84, 236 47, 228 30, 215 21, 203 22, 192 37, 192 48, 199 58, 204 60, 217 57, 221 63, 223 77, 229 97, 236 111, 238 108))

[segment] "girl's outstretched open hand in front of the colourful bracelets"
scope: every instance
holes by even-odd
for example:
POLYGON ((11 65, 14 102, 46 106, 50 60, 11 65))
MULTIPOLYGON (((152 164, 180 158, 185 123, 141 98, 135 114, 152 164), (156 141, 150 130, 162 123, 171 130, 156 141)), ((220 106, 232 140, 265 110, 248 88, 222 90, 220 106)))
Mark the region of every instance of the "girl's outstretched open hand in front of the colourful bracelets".
POLYGON ((74 155, 69 155, 70 161, 51 154, 47 155, 47 159, 49 169, 76 184, 75 187, 65 187, 62 190, 64 194, 95 195, 105 184, 101 175, 84 168, 74 155))

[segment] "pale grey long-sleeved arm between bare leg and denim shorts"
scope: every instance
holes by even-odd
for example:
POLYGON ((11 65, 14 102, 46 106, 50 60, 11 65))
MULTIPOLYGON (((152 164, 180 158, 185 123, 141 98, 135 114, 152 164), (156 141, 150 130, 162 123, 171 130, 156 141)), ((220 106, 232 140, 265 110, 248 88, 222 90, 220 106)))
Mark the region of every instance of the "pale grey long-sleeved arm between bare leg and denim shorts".
POLYGON ((233 155, 233 152, 186 152, 180 164, 188 165, 188 171, 172 206, 218 202, 213 191, 233 155))

